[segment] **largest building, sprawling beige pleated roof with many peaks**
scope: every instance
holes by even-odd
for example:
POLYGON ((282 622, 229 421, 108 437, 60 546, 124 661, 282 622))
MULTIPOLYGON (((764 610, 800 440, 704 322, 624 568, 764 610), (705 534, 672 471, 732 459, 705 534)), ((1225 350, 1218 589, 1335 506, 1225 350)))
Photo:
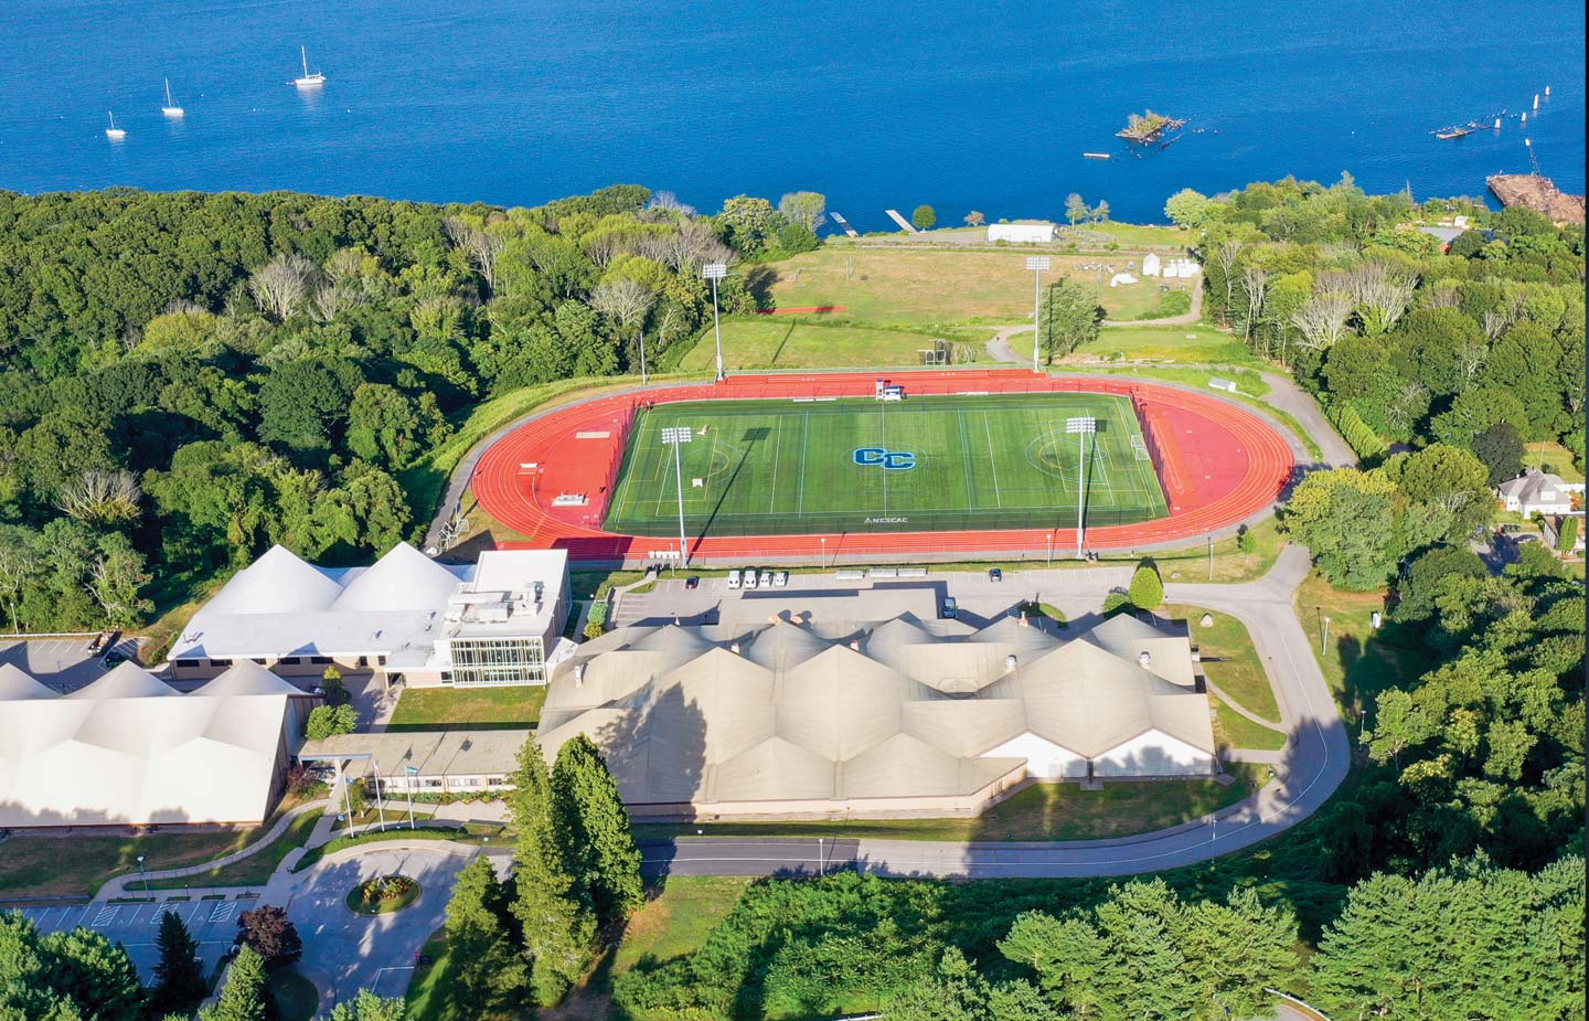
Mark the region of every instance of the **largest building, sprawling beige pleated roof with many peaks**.
POLYGON ((1063 639, 1003 619, 621 628, 559 665, 575 733, 637 814, 969 811, 1022 779, 1217 773, 1192 646, 1131 617, 1063 639))

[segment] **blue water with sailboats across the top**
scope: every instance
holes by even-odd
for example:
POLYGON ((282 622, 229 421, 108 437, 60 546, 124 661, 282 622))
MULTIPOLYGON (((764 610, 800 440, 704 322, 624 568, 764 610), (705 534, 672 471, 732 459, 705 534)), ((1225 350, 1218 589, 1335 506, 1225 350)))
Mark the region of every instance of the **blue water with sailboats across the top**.
POLYGON ((1584 189, 1584 10, 1548 0, 13 0, 0 188, 297 189, 528 205, 617 181, 713 212, 828 196, 860 229, 1162 221, 1182 186, 1287 173, 1584 189), (299 46, 327 83, 288 84, 299 46), (186 118, 160 115, 170 78, 186 118), (1533 95, 1551 86, 1532 111, 1533 95), (1184 116, 1168 148, 1114 132, 1184 116), (1498 132, 1433 129, 1510 110, 1498 132), (1516 113, 1530 110, 1524 126, 1516 113), (106 113, 127 130, 105 137, 106 113), (1111 161, 1084 151, 1112 153, 1111 161))

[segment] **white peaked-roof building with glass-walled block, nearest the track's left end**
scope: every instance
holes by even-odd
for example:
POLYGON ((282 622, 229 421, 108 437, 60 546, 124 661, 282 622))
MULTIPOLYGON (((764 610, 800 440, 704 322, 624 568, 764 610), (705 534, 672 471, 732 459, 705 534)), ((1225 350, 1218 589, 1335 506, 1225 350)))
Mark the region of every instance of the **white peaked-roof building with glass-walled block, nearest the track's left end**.
POLYGON ((567 620, 567 553, 489 550, 442 565, 407 542, 369 568, 321 568, 275 545, 197 614, 175 676, 253 660, 288 676, 372 671, 431 684, 543 684, 567 620))

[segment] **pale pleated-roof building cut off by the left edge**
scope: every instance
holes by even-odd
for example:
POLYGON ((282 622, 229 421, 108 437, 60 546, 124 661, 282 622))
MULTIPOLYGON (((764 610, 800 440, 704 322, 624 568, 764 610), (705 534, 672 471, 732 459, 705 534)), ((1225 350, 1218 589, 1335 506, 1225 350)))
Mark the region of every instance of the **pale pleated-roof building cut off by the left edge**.
POLYGON ((261 822, 307 711, 248 662, 188 695, 130 662, 70 695, 0 666, 0 825, 261 822))

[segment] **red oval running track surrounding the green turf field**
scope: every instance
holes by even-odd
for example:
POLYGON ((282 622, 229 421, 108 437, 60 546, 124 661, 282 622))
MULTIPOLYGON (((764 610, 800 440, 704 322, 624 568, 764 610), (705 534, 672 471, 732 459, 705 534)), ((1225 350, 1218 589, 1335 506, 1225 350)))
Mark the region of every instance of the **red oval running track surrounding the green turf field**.
MULTIPOLYGON (((653 388, 593 398, 543 412, 493 444, 472 479, 480 506, 524 536, 505 547, 566 549, 575 560, 650 560, 677 541, 602 530, 607 498, 634 409, 674 401, 872 396, 876 374, 736 375, 721 383, 653 388), (580 493, 583 506, 556 506, 580 493)), ((1087 549, 1136 549, 1187 541, 1265 510, 1290 479, 1293 458, 1279 433, 1252 412, 1211 394, 1108 377, 1049 377, 1022 369, 893 372, 912 394, 1109 393, 1135 394, 1163 460, 1170 515, 1087 530, 1087 549)), ((1074 528, 844 533, 694 539, 707 560, 845 558, 933 553, 1028 553, 1076 545, 1074 528)))

